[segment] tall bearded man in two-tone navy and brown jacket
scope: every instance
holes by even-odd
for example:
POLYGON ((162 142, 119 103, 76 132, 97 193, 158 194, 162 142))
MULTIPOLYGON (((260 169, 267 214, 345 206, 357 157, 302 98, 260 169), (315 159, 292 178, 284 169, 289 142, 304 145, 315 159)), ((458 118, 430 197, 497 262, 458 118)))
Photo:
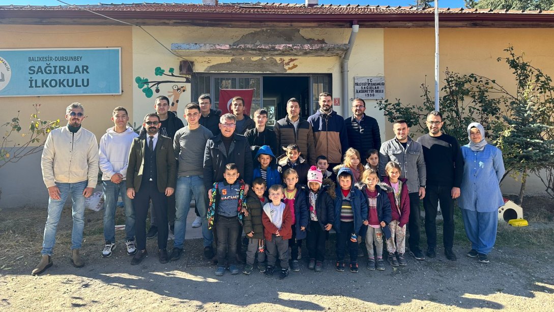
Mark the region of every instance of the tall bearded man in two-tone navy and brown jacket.
POLYGON ((308 117, 314 131, 315 154, 324 155, 333 168, 342 162, 342 155, 348 149, 345 119, 333 111, 333 98, 330 93, 319 95, 319 110, 308 117))

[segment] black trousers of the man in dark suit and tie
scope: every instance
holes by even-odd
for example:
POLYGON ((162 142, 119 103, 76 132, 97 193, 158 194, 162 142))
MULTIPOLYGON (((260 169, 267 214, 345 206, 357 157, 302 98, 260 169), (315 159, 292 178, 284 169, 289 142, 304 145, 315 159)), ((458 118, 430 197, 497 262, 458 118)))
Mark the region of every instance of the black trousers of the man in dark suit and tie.
POLYGON ((133 208, 135 209, 135 236, 137 249, 146 249, 146 216, 148 215, 148 206, 152 200, 151 214, 155 215, 160 224, 158 225, 158 248, 167 247, 167 196, 158 191, 156 181, 142 183, 140 190, 135 192, 133 208))

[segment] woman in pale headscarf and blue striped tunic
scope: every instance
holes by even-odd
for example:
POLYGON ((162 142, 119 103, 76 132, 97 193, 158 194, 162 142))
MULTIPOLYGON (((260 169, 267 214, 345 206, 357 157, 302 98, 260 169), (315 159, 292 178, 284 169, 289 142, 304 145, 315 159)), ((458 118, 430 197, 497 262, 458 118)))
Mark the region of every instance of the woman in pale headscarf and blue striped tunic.
POLYGON ((468 257, 489 263, 498 226, 498 207, 504 205, 500 180, 504 161, 500 149, 485 141, 485 129, 478 122, 468 126, 469 144, 461 147, 464 175, 458 204, 464 219, 465 233, 471 242, 468 257))

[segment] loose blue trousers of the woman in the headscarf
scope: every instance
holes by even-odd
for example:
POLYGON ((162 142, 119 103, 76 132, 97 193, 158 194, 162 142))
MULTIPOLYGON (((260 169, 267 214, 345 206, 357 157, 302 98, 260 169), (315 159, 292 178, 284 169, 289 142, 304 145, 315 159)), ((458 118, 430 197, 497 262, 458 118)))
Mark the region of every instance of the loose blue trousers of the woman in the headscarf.
POLYGON ((477 212, 476 210, 460 209, 464 219, 465 235, 471 242, 471 249, 478 253, 489 254, 496 241, 498 227, 498 212, 477 212))

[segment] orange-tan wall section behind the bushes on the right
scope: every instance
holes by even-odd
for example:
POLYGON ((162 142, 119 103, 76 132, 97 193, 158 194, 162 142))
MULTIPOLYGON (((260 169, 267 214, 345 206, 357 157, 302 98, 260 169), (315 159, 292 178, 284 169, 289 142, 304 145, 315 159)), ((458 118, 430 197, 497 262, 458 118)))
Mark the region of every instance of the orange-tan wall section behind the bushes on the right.
MULTIPOLYGON (((516 55, 554 75, 554 29, 512 28, 442 28, 439 32, 440 72, 444 79, 447 69, 460 74, 479 74, 495 79, 510 92, 515 91, 514 75, 504 61, 509 55, 503 51, 510 44, 516 55)), ((384 68, 386 97, 399 98, 406 103, 422 103, 419 86, 425 81, 434 90, 434 29, 393 28, 384 30, 384 68)), ((392 126, 387 122, 386 138, 391 139, 392 126)), ((468 142, 460 142, 467 144, 468 142)), ((502 191, 518 194, 521 183, 506 178, 502 191)), ((535 176, 527 180, 526 194, 542 194, 544 186, 535 176)))

